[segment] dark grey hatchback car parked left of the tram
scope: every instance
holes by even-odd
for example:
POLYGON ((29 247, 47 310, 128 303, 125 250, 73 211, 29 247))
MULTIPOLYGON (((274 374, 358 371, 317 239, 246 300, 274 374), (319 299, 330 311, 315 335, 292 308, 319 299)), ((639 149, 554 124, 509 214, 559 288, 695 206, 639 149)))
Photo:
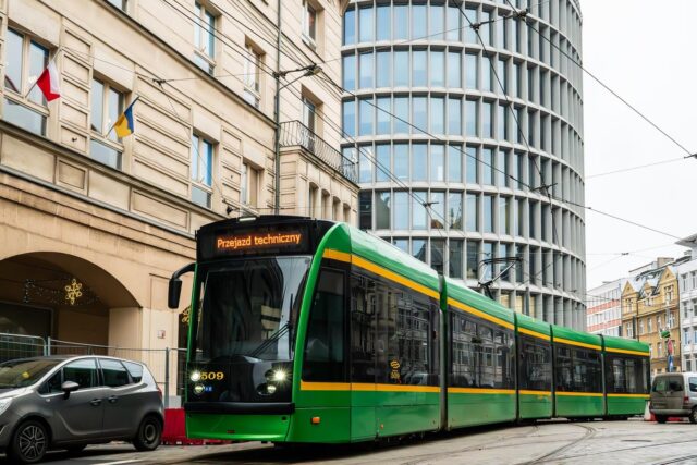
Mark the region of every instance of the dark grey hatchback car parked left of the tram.
POLYGON ((162 418, 162 393, 143 364, 99 356, 0 364, 0 450, 12 463, 113 440, 152 451, 162 418))

